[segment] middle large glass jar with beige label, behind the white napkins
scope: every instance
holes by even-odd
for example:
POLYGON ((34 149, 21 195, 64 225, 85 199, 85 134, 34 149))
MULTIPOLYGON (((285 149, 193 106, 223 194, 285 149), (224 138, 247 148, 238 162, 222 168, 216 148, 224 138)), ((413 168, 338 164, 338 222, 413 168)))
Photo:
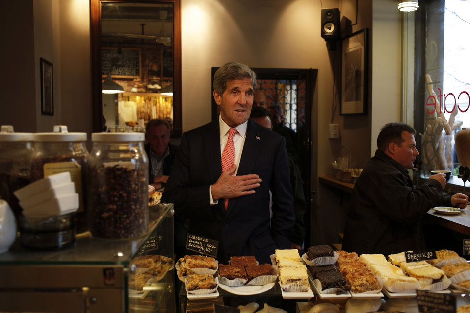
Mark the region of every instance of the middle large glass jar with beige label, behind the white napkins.
POLYGON ((67 126, 54 126, 49 133, 34 134, 34 153, 31 158, 31 180, 36 181, 52 174, 68 171, 79 195, 75 214, 77 233, 88 231, 88 180, 89 153, 86 133, 68 132, 67 126))

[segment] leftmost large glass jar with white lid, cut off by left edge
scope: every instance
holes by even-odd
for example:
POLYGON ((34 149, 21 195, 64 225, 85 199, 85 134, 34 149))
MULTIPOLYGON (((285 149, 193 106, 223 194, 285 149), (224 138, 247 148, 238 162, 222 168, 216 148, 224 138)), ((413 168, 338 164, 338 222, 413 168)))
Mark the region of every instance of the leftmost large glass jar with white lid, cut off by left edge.
POLYGON ((30 159, 33 134, 15 133, 13 126, 1 126, 0 131, 0 198, 10 205, 16 220, 21 207, 13 192, 30 183, 30 159))

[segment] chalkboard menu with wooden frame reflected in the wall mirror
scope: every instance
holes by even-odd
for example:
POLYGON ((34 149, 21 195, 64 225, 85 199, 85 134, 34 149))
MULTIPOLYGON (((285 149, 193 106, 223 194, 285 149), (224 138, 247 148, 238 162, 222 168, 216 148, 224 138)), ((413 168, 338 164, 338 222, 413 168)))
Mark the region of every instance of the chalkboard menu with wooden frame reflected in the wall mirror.
POLYGON ((101 69, 103 77, 111 72, 113 78, 139 78, 140 49, 103 48, 101 50, 101 69))

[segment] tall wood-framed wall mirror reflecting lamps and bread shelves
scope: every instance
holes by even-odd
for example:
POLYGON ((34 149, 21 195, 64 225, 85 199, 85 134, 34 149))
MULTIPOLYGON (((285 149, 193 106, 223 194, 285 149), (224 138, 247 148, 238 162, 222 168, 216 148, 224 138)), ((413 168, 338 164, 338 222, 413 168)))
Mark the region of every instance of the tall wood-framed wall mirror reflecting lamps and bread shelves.
POLYGON ((90 0, 90 21, 93 131, 163 118, 180 137, 180 0, 90 0))

